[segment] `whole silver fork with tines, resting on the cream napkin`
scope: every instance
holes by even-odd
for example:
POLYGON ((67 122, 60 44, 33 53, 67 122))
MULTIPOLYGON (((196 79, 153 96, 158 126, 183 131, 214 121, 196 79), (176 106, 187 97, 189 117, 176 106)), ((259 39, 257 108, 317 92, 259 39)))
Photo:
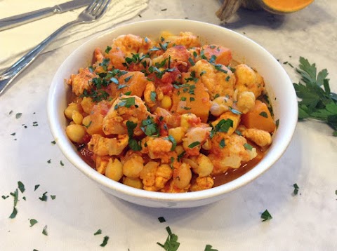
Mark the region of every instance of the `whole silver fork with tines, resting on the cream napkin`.
POLYGON ((88 22, 94 22, 98 20, 107 10, 107 6, 110 4, 111 0, 93 0, 93 2, 79 14, 77 20, 68 22, 59 29, 57 29, 53 34, 48 36, 44 41, 39 43, 36 47, 30 50, 26 55, 15 62, 11 67, 6 69, 5 72, 0 74, 0 95, 4 93, 4 90, 13 82, 16 76, 20 74, 28 65, 30 65, 35 58, 41 53, 46 46, 48 46, 55 37, 57 37, 66 29, 79 24, 84 24, 88 22))

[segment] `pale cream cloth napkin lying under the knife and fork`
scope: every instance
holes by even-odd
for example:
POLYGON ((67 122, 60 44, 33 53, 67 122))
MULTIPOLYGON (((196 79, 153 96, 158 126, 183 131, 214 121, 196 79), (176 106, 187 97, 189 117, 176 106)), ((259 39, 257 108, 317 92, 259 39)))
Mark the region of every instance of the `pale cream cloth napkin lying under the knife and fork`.
MULTIPOLYGON (((0 1, 0 18, 36 11, 40 8, 53 7, 67 0, 2 0, 0 1)), ((119 22, 131 19, 147 7, 148 0, 112 0, 103 18, 91 24, 77 25, 58 36, 44 52, 60 48, 86 36, 114 27, 119 22)), ((18 60, 28 50, 37 46, 47 36, 67 22, 75 20, 84 10, 55 14, 25 25, 0 32, 0 69, 5 69, 18 60)))

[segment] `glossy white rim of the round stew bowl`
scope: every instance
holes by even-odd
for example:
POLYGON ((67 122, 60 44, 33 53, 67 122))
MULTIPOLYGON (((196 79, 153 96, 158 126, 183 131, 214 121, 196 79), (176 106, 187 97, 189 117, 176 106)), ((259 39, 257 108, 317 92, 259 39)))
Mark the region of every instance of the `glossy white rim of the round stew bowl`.
MULTIPOLYGON (((81 44, 78 48, 76 48, 70 55, 67 56, 67 58, 62 62, 60 67, 58 68, 57 72, 55 72, 53 76, 53 80, 51 82, 51 86, 49 88, 48 92, 48 101, 47 101, 47 115, 48 115, 48 123, 51 129, 51 133, 57 142, 58 147, 62 151, 62 154, 65 155, 65 157, 74 165, 77 169, 79 169, 81 172, 83 172, 87 177, 93 179, 95 182, 100 184, 101 186, 105 186, 108 189, 112 189, 114 192, 125 194, 126 196, 136 197, 136 198, 144 198, 147 200, 153 200, 153 201, 163 201, 163 202, 180 202, 180 201, 199 201, 206 198, 213 198, 216 196, 220 196, 223 194, 227 194, 230 191, 234 191, 236 189, 239 189, 240 187, 248 184, 249 182, 253 181, 253 179, 256 179, 260 175, 262 175, 266 170, 270 169, 273 164, 275 164, 279 158, 284 154, 284 151, 286 151, 286 148, 289 146, 291 142, 291 138, 293 137, 293 133, 296 129, 297 124, 297 118, 298 118, 298 109, 297 109, 297 97, 295 90, 293 89, 293 85, 291 82, 291 79, 289 78, 289 75, 286 73, 282 65, 277 62, 275 57, 273 57, 263 46, 260 46, 255 41, 249 39, 248 37, 239 34, 237 32, 234 32, 230 29, 227 29, 225 27, 221 27, 219 25, 213 25, 206 22, 201 21, 195 21, 195 20, 183 20, 183 19, 154 19, 154 20, 143 20, 140 22, 132 22, 124 25, 119 25, 117 27, 113 27, 112 29, 108 29, 105 32, 98 34, 96 36, 93 36, 91 39, 88 39, 87 41, 84 41, 84 43, 81 44), (256 46, 261 52, 263 52, 267 57, 270 57, 269 60, 274 63, 275 67, 279 68, 279 72, 282 73, 284 78, 287 80, 288 85, 286 85, 286 89, 289 92, 289 102, 293 107, 296 107, 296 109, 293 110, 293 114, 289 115, 291 116, 291 120, 287 121, 288 123, 282 124, 284 126, 284 130, 286 132, 284 133, 283 140, 277 144, 277 150, 275 150, 275 154, 273 154, 272 157, 269 157, 265 159, 265 157, 256 165, 254 168, 246 172, 244 175, 238 177, 237 179, 232 180, 231 182, 227 182, 223 185, 213 187, 211 189, 203 190, 203 191, 194 191, 194 192, 188 192, 188 193, 182 193, 182 194, 169 194, 169 193, 162 193, 159 191, 145 191, 143 189, 136 189, 131 186, 126 186, 124 184, 121 184, 119 182, 115 182, 114 180, 105 177, 105 175, 101 175, 96 170, 93 170, 88 164, 86 164, 79 154, 75 151, 70 151, 72 147, 72 143, 70 140, 65 139, 63 133, 62 135, 62 128, 60 127, 60 121, 58 121, 57 114, 58 114, 58 104, 55 100, 55 88, 57 84, 60 84, 58 82, 58 75, 61 72, 62 67, 64 67, 65 62, 69 60, 69 58, 74 57, 74 55, 77 55, 77 52, 81 50, 81 48, 84 48, 88 43, 91 43, 93 41, 103 39, 103 37, 108 36, 112 32, 118 31, 120 29, 126 29, 127 27, 133 27, 138 25, 149 25, 152 23, 157 22, 165 22, 170 23, 172 25, 174 24, 192 24, 192 25, 200 25, 201 27, 209 27, 212 29, 216 29, 219 32, 227 32, 228 34, 231 34, 231 36, 234 37, 234 39, 244 39, 245 41, 253 44, 253 46, 256 46), (295 106, 294 106, 295 105, 295 106), (71 145, 70 145, 71 144, 71 145), (76 154, 76 156, 75 156, 76 154), (257 166, 262 165, 268 161, 268 164, 265 165, 264 168, 256 169, 257 166)), ((267 155, 267 154, 266 154, 267 155)), ((115 196, 118 196, 118 194, 114 193, 115 196)))

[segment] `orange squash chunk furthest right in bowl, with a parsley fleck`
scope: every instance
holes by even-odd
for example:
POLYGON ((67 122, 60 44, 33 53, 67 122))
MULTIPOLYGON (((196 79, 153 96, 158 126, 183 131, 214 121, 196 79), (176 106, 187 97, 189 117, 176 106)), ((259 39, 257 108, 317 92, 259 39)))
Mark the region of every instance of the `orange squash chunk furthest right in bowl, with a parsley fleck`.
POLYGON ((246 114, 242 114, 241 119, 246 128, 265 130, 268 133, 274 132, 276 128, 267 104, 260 100, 256 100, 254 108, 246 114))

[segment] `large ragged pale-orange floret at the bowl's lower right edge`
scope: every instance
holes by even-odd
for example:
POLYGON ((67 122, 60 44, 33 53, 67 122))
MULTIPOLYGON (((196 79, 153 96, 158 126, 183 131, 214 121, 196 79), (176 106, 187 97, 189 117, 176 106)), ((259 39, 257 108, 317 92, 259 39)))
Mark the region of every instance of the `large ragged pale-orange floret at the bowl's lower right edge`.
POLYGON ((214 165, 212 174, 225 173, 228 168, 239 168, 242 163, 255 158, 256 148, 249 150, 245 147, 246 144, 246 139, 236 133, 230 137, 223 133, 216 133, 212 139, 213 147, 209 154, 209 159, 214 165))

